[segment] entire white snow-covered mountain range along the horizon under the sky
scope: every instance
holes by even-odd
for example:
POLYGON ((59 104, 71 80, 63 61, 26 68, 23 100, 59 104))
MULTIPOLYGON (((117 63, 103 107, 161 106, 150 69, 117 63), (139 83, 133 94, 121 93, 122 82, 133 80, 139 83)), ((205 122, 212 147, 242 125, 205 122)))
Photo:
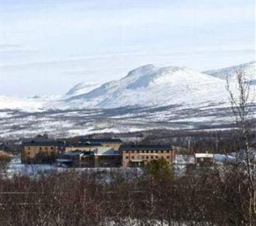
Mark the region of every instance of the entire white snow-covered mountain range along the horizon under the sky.
POLYGON ((1 109, 26 112, 48 109, 111 109, 127 106, 161 107, 166 105, 202 106, 228 102, 226 77, 234 81, 236 70, 243 69, 256 84, 256 63, 220 70, 196 72, 177 66, 148 64, 132 70, 126 77, 106 84, 82 82, 60 96, 13 98, 0 96, 1 109))

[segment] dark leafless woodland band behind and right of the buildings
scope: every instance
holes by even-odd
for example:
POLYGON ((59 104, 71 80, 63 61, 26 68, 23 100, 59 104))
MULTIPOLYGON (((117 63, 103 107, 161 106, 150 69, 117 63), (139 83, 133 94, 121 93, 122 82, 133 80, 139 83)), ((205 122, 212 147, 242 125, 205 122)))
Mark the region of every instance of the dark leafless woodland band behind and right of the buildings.
MULTIPOLYGON (((241 147, 241 135, 232 130, 148 130, 129 133, 92 134, 90 137, 121 137, 137 144, 172 144, 179 147, 180 154, 236 152, 241 147), (134 137, 136 139, 132 140, 134 137)), ((81 137, 70 138, 77 141, 81 137)), ((256 132, 251 133, 251 147, 256 149, 256 132)))

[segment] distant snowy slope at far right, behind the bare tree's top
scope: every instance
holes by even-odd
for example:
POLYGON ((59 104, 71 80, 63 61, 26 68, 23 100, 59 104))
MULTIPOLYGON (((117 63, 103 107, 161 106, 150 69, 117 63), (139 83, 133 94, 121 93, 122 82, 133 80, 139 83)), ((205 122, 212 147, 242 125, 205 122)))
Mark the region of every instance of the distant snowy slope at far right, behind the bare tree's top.
POLYGON ((226 80, 228 77, 228 79, 232 81, 236 79, 237 70, 243 70, 246 75, 248 75, 248 77, 250 77, 250 79, 252 80, 252 84, 256 85, 256 61, 246 64, 240 64, 237 66, 231 66, 229 68, 222 68, 219 70, 210 70, 204 73, 223 80, 226 80))

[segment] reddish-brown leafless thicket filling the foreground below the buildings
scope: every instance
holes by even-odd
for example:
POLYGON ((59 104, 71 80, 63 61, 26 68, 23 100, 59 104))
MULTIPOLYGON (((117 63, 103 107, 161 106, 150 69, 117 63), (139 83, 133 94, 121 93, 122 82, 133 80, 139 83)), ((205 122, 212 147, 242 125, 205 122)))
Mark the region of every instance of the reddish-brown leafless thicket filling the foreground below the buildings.
POLYGON ((246 225, 238 168, 127 179, 61 172, 0 178, 0 225, 246 225))

